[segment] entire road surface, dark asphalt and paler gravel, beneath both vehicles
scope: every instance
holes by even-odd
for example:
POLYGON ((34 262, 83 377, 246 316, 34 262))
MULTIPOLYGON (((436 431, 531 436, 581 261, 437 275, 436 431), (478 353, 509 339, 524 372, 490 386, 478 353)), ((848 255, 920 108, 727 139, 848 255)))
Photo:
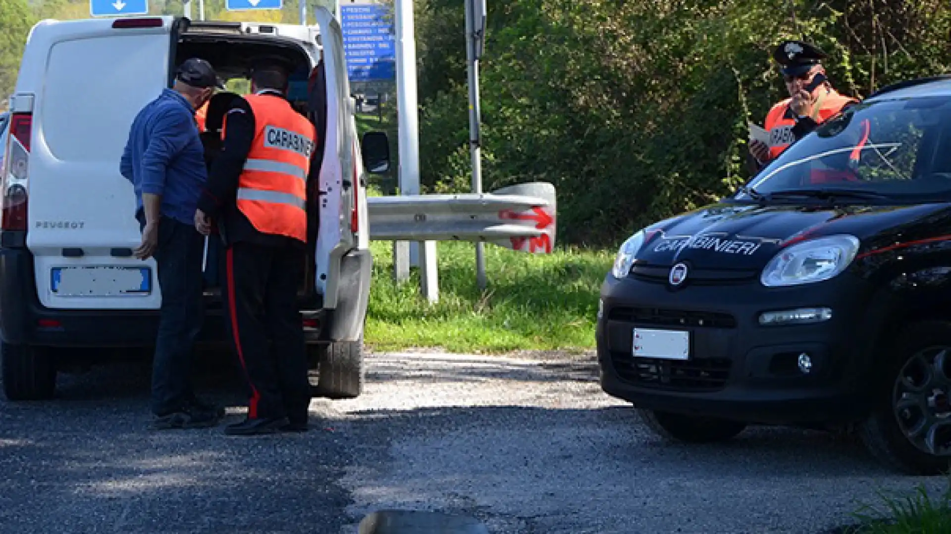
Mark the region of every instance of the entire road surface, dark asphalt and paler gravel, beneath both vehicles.
MULTIPOLYGON (((303 435, 151 430, 144 365, 64 376, 54 401, 0 401, 0 532, 353 534, 371 511, 413 508, 494 533, 814 534, 879 503, 877 487, 941 483, 821 432, 666 443, 600 391, 589 357, 371 360, 367 393, 315 400, 303 435)), ((240 406, 233 373, 202 376, 240 406)))

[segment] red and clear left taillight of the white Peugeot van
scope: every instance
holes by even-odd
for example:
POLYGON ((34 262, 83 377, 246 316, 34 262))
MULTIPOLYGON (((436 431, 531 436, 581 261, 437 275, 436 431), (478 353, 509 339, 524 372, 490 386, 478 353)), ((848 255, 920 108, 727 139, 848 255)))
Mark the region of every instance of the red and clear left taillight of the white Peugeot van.
POLYGON ((10 115, 10 139, 4 158, 3 177, 3 230, 27 229, 27 184, 29 182, 29 138, 33 129, 31 113, 10 115))

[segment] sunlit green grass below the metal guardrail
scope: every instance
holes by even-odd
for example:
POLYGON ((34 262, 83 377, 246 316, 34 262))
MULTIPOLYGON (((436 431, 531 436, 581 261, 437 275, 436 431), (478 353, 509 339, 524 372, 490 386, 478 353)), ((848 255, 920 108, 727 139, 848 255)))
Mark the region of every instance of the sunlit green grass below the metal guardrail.
POLYGON ((555 250, 530 255, 485 245, 488 285, 476 284, 476 247, 438 242, 439 301, 419 291, 419 273, 393 279, 393 243, 371 243, 373 289, 365 330, 376 350, 440 347, 468 353, 584 351, 594 346, 598 291, 613 253, 555 250))

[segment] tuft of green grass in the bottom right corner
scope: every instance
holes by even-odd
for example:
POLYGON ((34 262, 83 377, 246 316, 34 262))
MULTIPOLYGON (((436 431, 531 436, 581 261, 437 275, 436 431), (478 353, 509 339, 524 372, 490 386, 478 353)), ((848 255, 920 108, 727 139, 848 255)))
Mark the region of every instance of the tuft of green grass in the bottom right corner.
POLYGON ((940 496, 931 496, 924 486, 903 497, 879 491, 882 507, 864 505, 857 526, 843 534, 940 534, 951 532, 951 479, 940 496))

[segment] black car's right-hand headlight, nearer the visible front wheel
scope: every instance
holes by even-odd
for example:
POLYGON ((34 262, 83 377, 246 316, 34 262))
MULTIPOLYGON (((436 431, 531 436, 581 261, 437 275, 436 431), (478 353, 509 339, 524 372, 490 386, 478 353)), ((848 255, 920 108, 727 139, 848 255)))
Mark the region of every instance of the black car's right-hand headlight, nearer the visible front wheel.
POLYGON ((760 281, 767 287, 821 282, 838 276, 859 252, 854 236, 810 239, 781 250, 763 269, 760 281))

